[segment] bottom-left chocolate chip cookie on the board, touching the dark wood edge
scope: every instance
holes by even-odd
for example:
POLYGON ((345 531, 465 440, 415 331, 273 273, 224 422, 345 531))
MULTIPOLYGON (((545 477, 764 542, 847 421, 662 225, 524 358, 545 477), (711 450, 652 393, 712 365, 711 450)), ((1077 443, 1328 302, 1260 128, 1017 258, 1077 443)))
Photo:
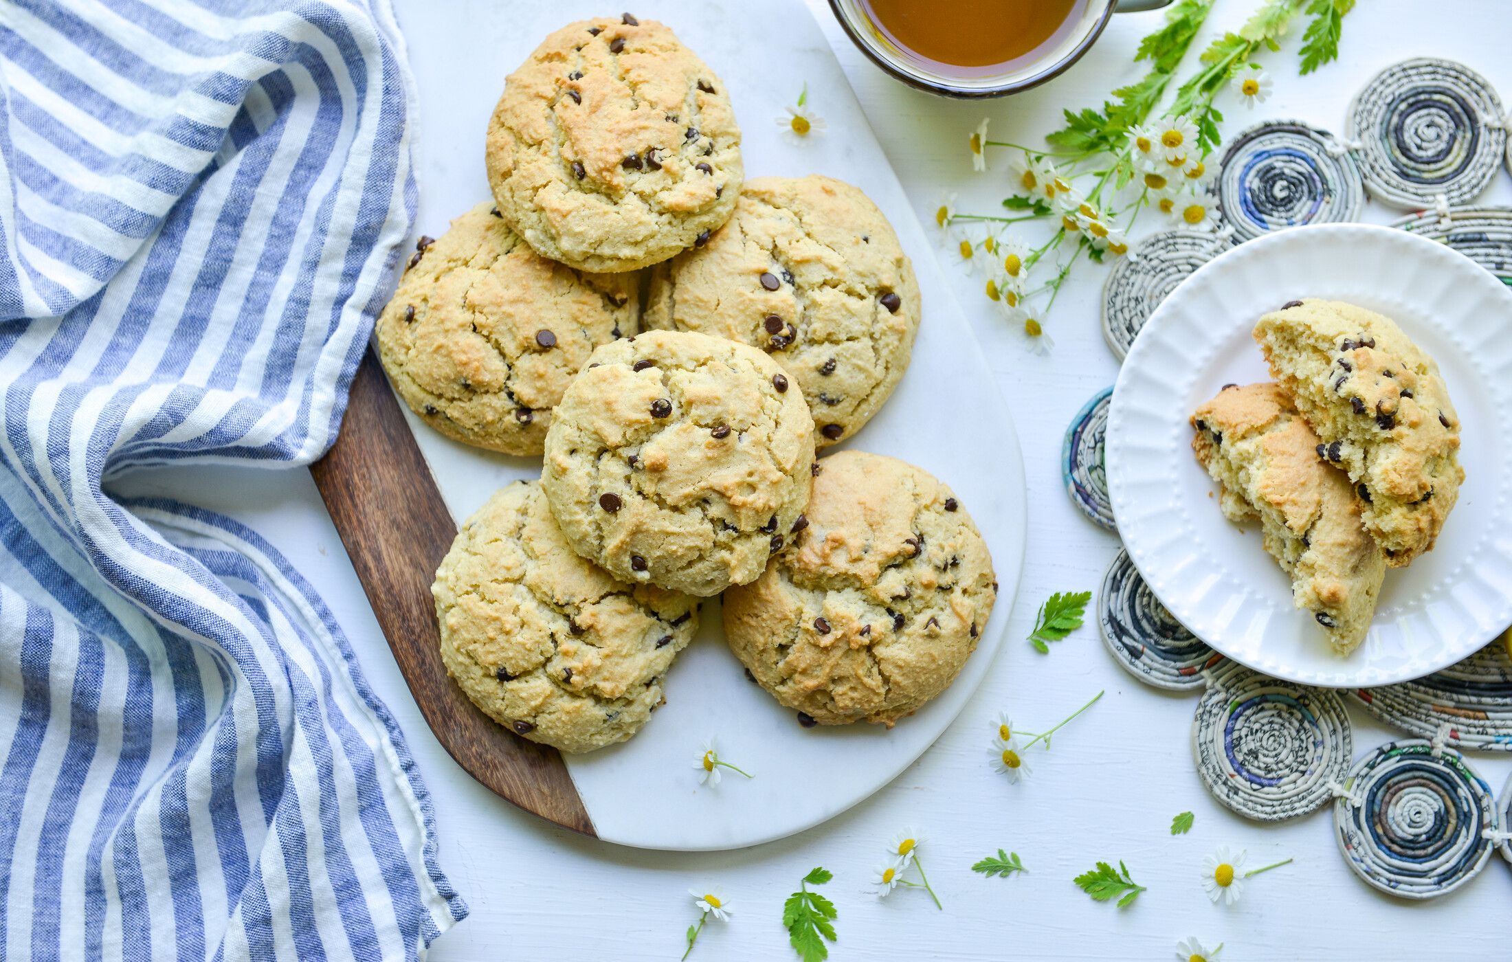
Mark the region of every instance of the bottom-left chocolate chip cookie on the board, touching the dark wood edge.
POLYGON ((467 697, 562 752, 638 732, 699 628, 696 599, 579 558, 535 481, 500 489, 467 519, 431 594, 442 661, 467 697))

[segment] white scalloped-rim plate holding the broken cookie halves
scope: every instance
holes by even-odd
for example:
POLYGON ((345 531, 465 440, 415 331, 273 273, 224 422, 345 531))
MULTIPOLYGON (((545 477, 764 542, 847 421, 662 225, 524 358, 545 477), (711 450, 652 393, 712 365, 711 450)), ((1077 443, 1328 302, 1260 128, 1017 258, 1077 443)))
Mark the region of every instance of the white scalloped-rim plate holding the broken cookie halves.
POLYGON ((1388 227, 1296 227, 1199 268, 1151 315, 1119 372, 1108 492, 1123 546, 1199 638, 1255 670, 1332 688, 1420 678, 1512 623, 1512 290, 1453 250, 1388 227), (1294 298, 1393 318, 1438 360, 1464 422, 1465 484, 1435 549, 1387 572, 1364 644, 1335 655, 1291 605, 1258 526, 1229 523, 1187 419, 1226 383, 1269 380, 1250 337, 1294 298))

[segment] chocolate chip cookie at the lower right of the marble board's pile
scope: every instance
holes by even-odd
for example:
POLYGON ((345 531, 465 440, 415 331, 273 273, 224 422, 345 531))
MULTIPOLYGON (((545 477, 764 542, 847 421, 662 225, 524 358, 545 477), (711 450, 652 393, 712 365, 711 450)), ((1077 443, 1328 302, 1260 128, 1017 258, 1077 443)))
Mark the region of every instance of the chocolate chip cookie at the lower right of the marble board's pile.
POLYGON ((842 451, 821 461, 792 542, 724 594, 724 637, 788 708, 892 728, 956 679, 996 593, 987 543, 948 487, 842 451))

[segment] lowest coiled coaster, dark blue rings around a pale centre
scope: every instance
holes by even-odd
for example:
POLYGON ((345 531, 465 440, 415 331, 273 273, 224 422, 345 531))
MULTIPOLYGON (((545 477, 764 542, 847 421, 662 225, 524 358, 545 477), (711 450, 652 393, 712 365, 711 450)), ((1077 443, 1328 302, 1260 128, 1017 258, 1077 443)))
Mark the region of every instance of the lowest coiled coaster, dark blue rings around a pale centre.
POLYGON ((1383 892, 1445 895, 1491 858, 1495 800, 1455 749, 1390 741, 1355 764, 1343 790, 1334 802, 1340 852, 1383 892))

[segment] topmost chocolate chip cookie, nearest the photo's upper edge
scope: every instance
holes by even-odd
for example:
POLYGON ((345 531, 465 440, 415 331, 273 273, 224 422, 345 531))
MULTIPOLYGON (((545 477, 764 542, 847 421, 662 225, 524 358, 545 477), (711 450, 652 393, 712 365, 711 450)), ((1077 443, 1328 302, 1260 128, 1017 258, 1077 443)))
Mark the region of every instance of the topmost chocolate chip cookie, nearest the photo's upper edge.
POLYGON ((632 271, 718 228, 741 192, 724 83, 665 26, 569 24, 503 86, 488 121, 499 212, 541 256, 632 271))

